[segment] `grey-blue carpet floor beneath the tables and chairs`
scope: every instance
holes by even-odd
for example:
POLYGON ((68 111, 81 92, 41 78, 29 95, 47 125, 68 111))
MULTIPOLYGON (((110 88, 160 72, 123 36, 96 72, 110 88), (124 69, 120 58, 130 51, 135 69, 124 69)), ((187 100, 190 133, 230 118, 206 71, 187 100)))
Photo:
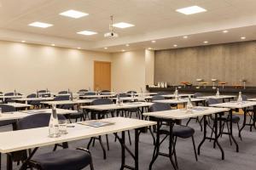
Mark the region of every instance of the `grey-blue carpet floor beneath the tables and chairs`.
MULTIPOLYGON (((183 121, 183 124, 186 120, 183 121)), ((199 124, 195 121, 190 122, 190 127, 195 128, 195 144, 196 147, 200 144, 203 133, 200 130, 199 124)), ((11 127, 1 127, 0 131, 10 130, 11 127)), ((183 170, 254 170, 256 168, 256 131, 249 132, 249 128, 245 127, 242 131, 242 141, 237 137, 237 127, 234 125, 234 135, 239 144, 240 152, 236 152, 235 144, 230 145, 229 137, 224 135, 219 139, 220 144, 224 148, 225 160, 221 160, 221 154, 218 150, 213 149, 212 142, 206 141, 201 147, 201 156, 199 160, 195 161, 192 140, 191 139, 177 139, 177 161, 179 169, 183 170)), ((134 140, 134 133, 131 132, 131 139, 134 140)), ((36 138, 36 137, 35 137, 36 138)), ((128 139, 128 138, 127 138, 128 139)), ((128 141, 128 140, 126 140, 128 141)), ((83 139, 69 143, 69 147, 85 147, 89 139, 83 139)), ((103 142, 106 142, 103 137, 103 142)), ((91 147, 94 166, 96 170, 117 170, 121 164, 121 150, 118 142, 114 142, 113 135, 109 135, 110 150, 107 152, 107 159, 104 160, 102 156, 102 149, 100 144, 96 142, 95 147, 91 147)), ((133 149, 134 144, 131 145, 133 149)), ((53 149, 53 146, 40 148, 38 153, 48 152, 53 149)), ((140 135, 139 143, 139 169, 148 169, 149 162, 151 161, 154 150, 153 139, 150 133, 142 133, 140 135)), ((162 151, 168 150, 167 140, 161 146, 162 151)), ((131 156, 127 154, 127 163, 133 163, 131 156)), ((2 169, 6 169, 6 156, 2 156, 2 169)), ((14 163, 14 169, 18 169, 14 163)), ((90 169, 84 168, 84 169, 90 169)), ((154 163, 153 169, 167 170, 173 169, 172 164, 167 157, 159 156, 154 163)))

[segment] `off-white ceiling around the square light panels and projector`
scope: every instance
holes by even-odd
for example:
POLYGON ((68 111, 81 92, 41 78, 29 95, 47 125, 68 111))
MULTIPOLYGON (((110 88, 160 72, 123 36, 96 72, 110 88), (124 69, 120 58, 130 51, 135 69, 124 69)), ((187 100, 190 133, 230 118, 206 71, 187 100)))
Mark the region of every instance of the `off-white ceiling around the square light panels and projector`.
POLYGON ((179 48, 256 39, 255 0, 0 0, 0 39, 90 50, 116 52, 135 48, 179 48), (201 14, 184 15, 175 10, 192 5, 206 8, 201 14), (59 15, 68 9, 88 13, 80 19, 59 15), (119 29, 119 38, 103 37, 109 16, 114 23, 134 27, 119 29), (34 21, 53 24, 46 29, 27 26, 34 21), (223 35, 222 30, 230 32, 223 35), (86 37, 78 31, 96 31, 86 37), (192 35, 183 40, 183 35, 192 35), (157 40, 151 44, 151 40, 157 40), (125 47, 129 43, 130 47, 125 47), (108 47, 108 49, 104 49, 108 47))

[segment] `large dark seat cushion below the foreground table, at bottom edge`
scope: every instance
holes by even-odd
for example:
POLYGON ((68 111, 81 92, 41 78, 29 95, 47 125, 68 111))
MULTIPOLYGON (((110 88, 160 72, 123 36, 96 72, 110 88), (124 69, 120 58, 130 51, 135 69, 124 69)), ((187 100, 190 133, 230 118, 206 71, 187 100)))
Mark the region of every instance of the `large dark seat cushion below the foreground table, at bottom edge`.
POLYGON ((79 170, 90 164, 90 154, 84 150, 56 150, 53 152, 35 155, 36 161, 43 169, 47 170, 79 170))

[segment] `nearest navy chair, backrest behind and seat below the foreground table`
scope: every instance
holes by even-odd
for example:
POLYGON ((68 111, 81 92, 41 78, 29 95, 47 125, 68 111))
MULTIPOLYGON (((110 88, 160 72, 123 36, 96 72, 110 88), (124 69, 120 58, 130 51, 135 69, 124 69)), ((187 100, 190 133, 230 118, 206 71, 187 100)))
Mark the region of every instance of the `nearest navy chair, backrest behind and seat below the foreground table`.
MULTIPOLYGON (((35 114, 26 116, 17 122, 18 130, 36 127, 47 127, 49 124, 50 113, 35 114)), ((58 115, 59 119, 65 119, 64 116, 58 115)), ((32 159, 26 162, 24 167, 37 168, 39 170, 80 170, 90 165, 93 170, 92 158, 89 150, 78 148, 56 150, 49 153, 32 156, 32 159)))

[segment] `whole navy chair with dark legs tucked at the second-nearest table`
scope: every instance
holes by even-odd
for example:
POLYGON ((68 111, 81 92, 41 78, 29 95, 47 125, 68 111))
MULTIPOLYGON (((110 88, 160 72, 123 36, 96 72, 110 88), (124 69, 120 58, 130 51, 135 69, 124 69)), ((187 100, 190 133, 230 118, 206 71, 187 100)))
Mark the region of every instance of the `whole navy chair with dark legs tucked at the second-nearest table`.
MULTIPOLYGON (((168 111, 171 110, 171 106, 168 104, 161 104, 161 103, 155 103, 153 105, 151 105, 148 109, 149 112, 155 112, 155 111, 168 111)), ((149 120, 155 120, 154 117, 149 117, 149 120)), ((161 123, 161 127, 160 127, 160 135, 164 134, 166 135, 161 141, 160 144, 162 144, 162 142, 166 139, 167 136, 170 135, 169 130, 166 130, 166 128, 162 128, 163 125, 169 126, 168 123, 161 123)), ((195 130, 192 127, 188 127, 188 126, 183 126, 183 125, 175 125, 172 128, 172 135, 174 138, 174 144, 173 144, 173 154, 175 157, 175 161, 176 161, 176 165, 177 165, 177 154, 176 154, 176 144, 177 144, 177 138, 182 138, 182 139, 187 139, 187 138, 192 138, 192 143, 193 143, 193 148, 194 148, 194 152, 195 152, 195 160, 197 161, 197 153, 196 153, 196 149, 195 149, 195 139, 194 139, 194 133, 195 130)), ((170 147, 170 146, 169 146, 170 147)))

